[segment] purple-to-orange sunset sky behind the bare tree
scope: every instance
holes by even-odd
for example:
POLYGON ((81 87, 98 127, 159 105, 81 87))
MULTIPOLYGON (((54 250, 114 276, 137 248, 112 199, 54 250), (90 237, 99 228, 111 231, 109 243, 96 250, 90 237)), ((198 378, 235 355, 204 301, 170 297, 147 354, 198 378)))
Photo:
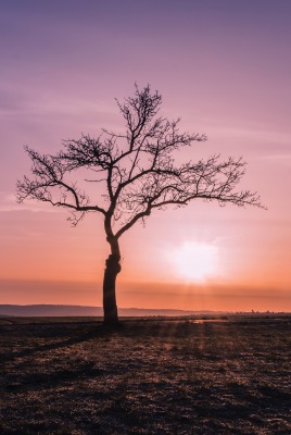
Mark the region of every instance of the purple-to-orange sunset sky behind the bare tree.
POLYGON ((118 307, 291 311, 291 2, 0 0, 0 303, 100 306, 102 217, 15 201, 24 145, 123 130, 115 98, 150 84, 162 114, 243 157, 267 210, 193 201, 121 239, 118 307))

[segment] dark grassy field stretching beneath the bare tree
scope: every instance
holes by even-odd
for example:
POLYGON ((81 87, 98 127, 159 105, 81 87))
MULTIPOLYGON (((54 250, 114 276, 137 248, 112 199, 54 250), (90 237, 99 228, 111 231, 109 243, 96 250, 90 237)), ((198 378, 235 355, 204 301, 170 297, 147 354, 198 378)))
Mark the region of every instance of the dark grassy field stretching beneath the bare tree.
POLYGON ((0 319, 0 434, 290 434, 289 315, 0 319))

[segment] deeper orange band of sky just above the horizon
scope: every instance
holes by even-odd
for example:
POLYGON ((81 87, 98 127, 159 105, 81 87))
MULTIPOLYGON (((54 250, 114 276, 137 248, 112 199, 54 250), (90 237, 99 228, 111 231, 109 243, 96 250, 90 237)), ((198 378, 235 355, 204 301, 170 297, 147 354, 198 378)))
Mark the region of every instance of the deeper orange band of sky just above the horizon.
MULTIPOLYGON (((58 281, 0 281, 1 303, 102 306, 101 283, 58 281)), ((291 312, 289 289, 242 285, 128 283, 117 285, 119 308, 192 311, 291 312)))

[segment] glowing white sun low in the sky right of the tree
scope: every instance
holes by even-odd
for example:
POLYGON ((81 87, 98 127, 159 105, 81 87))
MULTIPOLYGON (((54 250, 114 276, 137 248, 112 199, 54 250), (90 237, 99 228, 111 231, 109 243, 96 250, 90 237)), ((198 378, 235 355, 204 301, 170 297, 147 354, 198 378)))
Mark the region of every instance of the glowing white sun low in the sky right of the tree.
POLYGON ((218 248, 211 244, 186 241, 169 259, 175 275, 188 282, 205 282, 218 270, 218 248))

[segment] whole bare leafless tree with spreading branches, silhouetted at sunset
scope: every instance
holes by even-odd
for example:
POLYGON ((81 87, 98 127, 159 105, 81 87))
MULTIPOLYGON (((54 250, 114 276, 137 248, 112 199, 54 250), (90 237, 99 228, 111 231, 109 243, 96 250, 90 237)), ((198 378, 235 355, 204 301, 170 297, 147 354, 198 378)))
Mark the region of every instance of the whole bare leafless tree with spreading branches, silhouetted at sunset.
POLYGON ((33 162, 34 178, 17 182, 17 200, 36 199, 67 208, 76 225, 87 212, 103 215, 106 241, 111 253, 105 262, 103 279, 104 323, 118 322, 115 282, 121 272, 119 239, 137 222, 144 221, 154 209, 187 206, 194 199, 216 200, 262 207, 260 197, 250 190, 236 190, 244 174, 245 162, 212 156, 197 162, 175 164, 175 154, 182 147, 206 140, 204 135, 179 132, 179 119, 159 116, 161 95, 136 85, 132 97, 117 101, 125 120, 125 132, 102 130, 98 138, 81 135, 65 140, 55 156, 40 154, 25 147, 33 162), (78 176, 72 177, 73 173, 78 176), (86 175, 84 176, 84 174, 86 175), (88 174, 93 174, 89 179, 88 174), (78 184, 76 182, 78 181, 78 184), (80 187, 86 182, 93 195, 80 187), (102 186, 102 188, 101 188, 102 186), (97 199, 96 199, 97 198, 97 199))

